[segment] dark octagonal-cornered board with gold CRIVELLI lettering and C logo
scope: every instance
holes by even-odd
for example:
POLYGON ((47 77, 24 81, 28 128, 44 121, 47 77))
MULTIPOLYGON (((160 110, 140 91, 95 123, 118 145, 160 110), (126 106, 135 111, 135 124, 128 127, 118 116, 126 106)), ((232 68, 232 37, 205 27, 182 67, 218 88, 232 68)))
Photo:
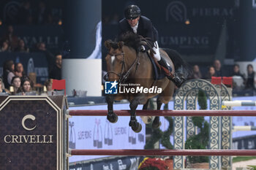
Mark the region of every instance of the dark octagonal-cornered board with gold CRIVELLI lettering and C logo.
POLYGON ((48 97, 1 96, 0 169, 64 169, 61 109, 48 97))

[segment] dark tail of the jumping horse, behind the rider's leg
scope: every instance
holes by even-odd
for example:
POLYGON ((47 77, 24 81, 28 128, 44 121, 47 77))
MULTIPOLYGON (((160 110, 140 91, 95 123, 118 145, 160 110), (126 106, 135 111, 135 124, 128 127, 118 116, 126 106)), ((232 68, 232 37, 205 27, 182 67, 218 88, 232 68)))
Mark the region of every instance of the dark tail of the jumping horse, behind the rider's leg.
POLYGON ((169 58, 173 61, 173 65, 177 74, 182 74, 185 79, 191 77, 192 67, 181 58, 181 55, 176 50, 171 50, 169 48, 162 48, 169 58))

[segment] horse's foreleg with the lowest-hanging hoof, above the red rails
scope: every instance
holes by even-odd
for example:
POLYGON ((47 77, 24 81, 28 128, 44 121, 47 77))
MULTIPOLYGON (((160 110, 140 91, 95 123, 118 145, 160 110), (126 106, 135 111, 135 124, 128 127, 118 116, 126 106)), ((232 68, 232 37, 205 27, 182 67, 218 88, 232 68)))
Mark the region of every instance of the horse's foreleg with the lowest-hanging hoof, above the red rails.
POLYGON ((138 123, 136 119, 136 109, 138 107, 138 100, 132 100, 129 104, 129 108, 131 109, 131 120, 129 120, 129 126, 132 127, 132 131, 135 131, 136 133, 139 133, 142 129, 142 126, 140 123, 138 123))

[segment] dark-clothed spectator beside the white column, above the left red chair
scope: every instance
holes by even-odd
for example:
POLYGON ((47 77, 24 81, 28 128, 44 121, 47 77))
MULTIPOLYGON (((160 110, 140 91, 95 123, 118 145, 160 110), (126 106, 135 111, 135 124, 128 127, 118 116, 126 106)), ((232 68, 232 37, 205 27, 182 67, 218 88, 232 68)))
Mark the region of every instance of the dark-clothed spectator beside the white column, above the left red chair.
POLYGON ((53 66, 53 69, 49 73, 50 79, 61 80, 61 63, 62 63, 62 55, 56 55, 56 61, 53 66))

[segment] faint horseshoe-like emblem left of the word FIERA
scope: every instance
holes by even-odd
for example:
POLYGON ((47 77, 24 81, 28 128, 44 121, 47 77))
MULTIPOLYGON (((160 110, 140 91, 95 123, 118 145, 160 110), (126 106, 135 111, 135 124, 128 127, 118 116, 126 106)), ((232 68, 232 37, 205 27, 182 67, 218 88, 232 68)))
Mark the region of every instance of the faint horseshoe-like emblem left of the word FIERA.
POLYGON ((181 1, 170 2, 166 7, 165 20, 166 22, 170 20, 185 22, 187 20, 187 7, 181 1))

